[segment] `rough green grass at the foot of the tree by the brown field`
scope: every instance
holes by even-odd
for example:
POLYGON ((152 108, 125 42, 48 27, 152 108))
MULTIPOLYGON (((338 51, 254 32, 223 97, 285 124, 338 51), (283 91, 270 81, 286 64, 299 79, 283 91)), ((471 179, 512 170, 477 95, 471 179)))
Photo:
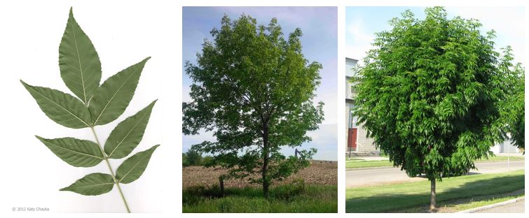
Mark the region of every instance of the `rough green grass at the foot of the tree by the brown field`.
POLYGON ((296 189, 290 185, 270 190, 270 199, 262 189, 226 189, 219 197, 218 188, 183 191, 183 212, 338 212, 336 185, 306 185, 296 189))

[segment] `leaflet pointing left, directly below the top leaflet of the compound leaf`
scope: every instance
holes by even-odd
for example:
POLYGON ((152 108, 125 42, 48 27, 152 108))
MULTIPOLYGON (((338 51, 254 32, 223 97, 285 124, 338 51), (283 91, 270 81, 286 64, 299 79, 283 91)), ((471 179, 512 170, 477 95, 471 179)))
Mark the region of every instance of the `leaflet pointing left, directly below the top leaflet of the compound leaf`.
POLYGON ((32 94, 41 110, 57 124, 73 129, 89 127, 92 123, 90 112, 74 96, 46 87, 28 85, 20 80, 29 94, 32 94))

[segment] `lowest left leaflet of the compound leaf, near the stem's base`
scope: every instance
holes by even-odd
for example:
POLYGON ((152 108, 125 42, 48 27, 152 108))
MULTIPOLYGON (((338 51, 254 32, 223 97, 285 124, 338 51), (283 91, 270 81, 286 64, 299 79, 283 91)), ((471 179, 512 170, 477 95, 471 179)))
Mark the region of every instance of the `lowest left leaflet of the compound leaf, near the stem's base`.
POLYGON ((85 175, 69 187, 60 189, 60 191, 74 191, 77 194, 86 196, 95 196, 105 194, 114 187, 114 180, 111 175, 104 173, 92 173, 85 175))

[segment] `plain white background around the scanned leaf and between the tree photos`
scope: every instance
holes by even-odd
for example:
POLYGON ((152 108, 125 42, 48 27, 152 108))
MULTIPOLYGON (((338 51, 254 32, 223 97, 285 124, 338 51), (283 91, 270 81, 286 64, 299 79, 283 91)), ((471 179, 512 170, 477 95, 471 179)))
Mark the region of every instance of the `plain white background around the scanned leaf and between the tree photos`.
MULTIPOLYGON (((106 172, 104 165, 82 169, 55 157, 34 134, 54 138, 76 136, 92 139, 87 130, 71 130, 50 121, 20 85, 24 79, 68 92, 58 68, 58 47, 67 22, 69 6, 83 30, 90 36, 102 62, 102 80, 146 56, 149 60, 129 108, 109 129, 97 128, 102 140, 119 121, 160 99, 153 110, 144 140, 135 152, 161 143, 146 173, 132 184, 123 185, 133 212, 132 217, 211 217, 181 215, 181 6, 338 6, 338 99, 344 99, 342 84, 345 61, 345 6, 525 6, 525 1, 0 1, 0 217, 94 217, 90 214, 52 212, 123 212, 116 190, 88 197, 57 191, 94 171, 106 172), (243 3, 244 2, 244 3, 243 3), (106 134, 104 134, 106 133, 106 134), (90 170, 90 171, 89 171, 90 170), (11 212, 12 207, 48 207, 50 212, 11 212)), ((527 20, 525 7, 525 20, 527 20)), ((516 21, 513 21, 516 22, 516 21)), ((528 22, 525 22, 528 24, 528 22)), ((529 36, 526 32, 525 37, 529 36)), ((525 43, 525 50, 528 44, 525 43)), ((525 60, 525 63, 528 63, 525 60)), ((527 82, 527 81, 526 81, 527 82)), ((527 96, 526 89, 526 96, 527 96)), ((339 100, 338 100, 339 101, 339 100)), ((338 126, 345 105, 338 104, 338 126)), ((526 128, 527 129, 527 128, 526 128)), ((338 145, 345 143, 345 132, 338 131, 338 145)), ((338 146, 338 154, 342 147, 338 146)), ((344 214, 345 157, 338 156, 338 215, 310 214, 289 217, 468 217, 465 214, 344 214)), ((114 168, 118 162, 114 161, 114 168)), ((526 163, 527 164, 527 163, 526 163)), ((527 181, 527 180, 525 180, 527 181)), ((525 210, 527 211, 527 205, 525 210)), ((247 217, 249 215, 214 215, 247 217)), ((278 215, 251 215, 277 217, 278 215)), ((279 215, 280 216, 280 215, 279 215)), ((478 215, 474 215, 478 216, 478 215)), ((502 215, 500 215, 501 217, 502 215)), ((106 214, 102 217, 124 217, 106 214)), ((498 217, 482 214, 479 217, 498 217)), ((509 215, 523 217, 523 215, 509 215)))

